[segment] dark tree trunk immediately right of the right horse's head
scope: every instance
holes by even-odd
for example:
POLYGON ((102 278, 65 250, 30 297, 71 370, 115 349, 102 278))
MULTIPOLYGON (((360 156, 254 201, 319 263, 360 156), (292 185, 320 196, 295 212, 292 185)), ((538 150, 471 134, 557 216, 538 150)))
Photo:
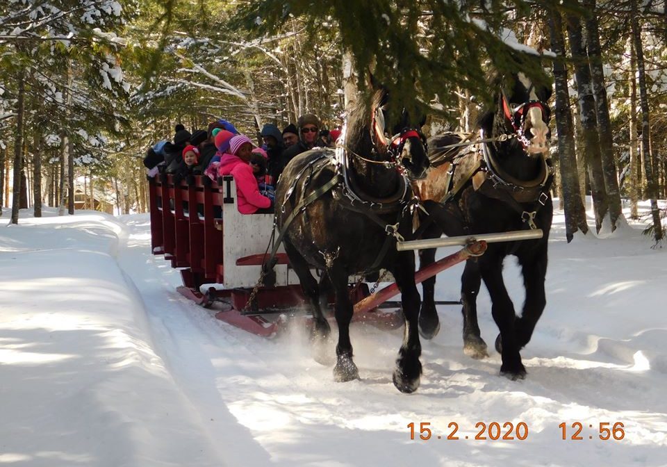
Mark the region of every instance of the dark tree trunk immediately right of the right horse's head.
POLYGON ((565 57, 565 40, 561 15, 554 9, 549 11, 549 30, 551 49, 557 58, 554 59, 554 81, 556 85, 556 127, 558 131, 558 156, 563 187, 563 204, 565 206, 565 227, 568 243, 574 238, 575 232, 581 229, 588 232, 586 211, 579 192, 577 179, 577 159, 575 158, 575 138, 570 112, 570 93, 568 92, 568 69, 563 63, 565 57))

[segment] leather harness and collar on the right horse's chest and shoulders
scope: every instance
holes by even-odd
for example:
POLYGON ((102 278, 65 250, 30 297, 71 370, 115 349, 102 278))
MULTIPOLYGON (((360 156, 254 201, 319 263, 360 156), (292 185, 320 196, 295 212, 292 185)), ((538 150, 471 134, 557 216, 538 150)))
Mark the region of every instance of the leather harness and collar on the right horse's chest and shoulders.
MULTIPOLYGON (((481 131, 481 140, 484 140, 484 131, 481 131)), ((505 172, 489 150, 488 142, 477 142, 469 146, 467 151, 456 154, 450 161, 451 165, 445 179, 447 191, 443 199, 436 201, 449 202, 459 195, 463 188, 472 184, 475 191, 486 197, 498 199, 511 207, 521 216, 523 222, 527 222, 530 229, 537 228, 534 219, 541 206, 547 202, 549 198, 547 193, 553 181, 554 169, 551 158, 544 153, 541 155, 540 173, 531 181, 515 179, 505 172), (454 173, 461 159, 473 155, 477 156, 477 163, 472 165, 455 186, 452 186, 454 173), (527 211, 526 204, 533 204, 534 210, 527 211)), ((464 209, 461 211, 465 212, 464 209)))

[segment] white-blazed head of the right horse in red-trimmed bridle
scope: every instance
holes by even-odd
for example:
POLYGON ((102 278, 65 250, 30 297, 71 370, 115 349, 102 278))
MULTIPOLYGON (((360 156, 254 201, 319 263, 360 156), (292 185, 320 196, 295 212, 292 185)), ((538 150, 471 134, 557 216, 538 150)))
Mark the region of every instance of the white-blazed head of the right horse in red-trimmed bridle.
POLYGON ((551 87, 534 83, 519 72, 500 85, 496 118, 516 136, 528 156, 536 156, 549 149, 550 109, 547 101, 551 87))

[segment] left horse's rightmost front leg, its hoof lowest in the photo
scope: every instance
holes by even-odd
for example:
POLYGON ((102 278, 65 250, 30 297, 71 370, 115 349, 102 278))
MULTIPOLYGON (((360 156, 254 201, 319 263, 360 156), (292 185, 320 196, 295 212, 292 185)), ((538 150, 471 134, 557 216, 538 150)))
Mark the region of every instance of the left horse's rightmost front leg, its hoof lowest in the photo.
POLYGON ((413 252, 401 252, 397 256, 392 270, 396 285, 401 290, 401 303, 405 318, 403 344, 398 352, 394 370, 394 386, 402 393, 417 390, 422 375, 422 345, 419 341, 419 292, 415 285, 415 255, 413 252))

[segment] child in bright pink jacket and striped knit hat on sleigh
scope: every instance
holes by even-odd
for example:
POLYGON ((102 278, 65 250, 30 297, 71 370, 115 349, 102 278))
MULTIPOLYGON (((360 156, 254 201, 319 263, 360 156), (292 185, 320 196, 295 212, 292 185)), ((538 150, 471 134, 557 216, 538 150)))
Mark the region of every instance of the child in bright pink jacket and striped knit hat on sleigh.
POLYGON ((220 176, 231 175, 236 182, 238 211, 242 214, 272 213, 271 199, 261 195, 257 179, 249 165, 252 142, 245 135, 229 141, 229 153, 220 159, 220 176))

